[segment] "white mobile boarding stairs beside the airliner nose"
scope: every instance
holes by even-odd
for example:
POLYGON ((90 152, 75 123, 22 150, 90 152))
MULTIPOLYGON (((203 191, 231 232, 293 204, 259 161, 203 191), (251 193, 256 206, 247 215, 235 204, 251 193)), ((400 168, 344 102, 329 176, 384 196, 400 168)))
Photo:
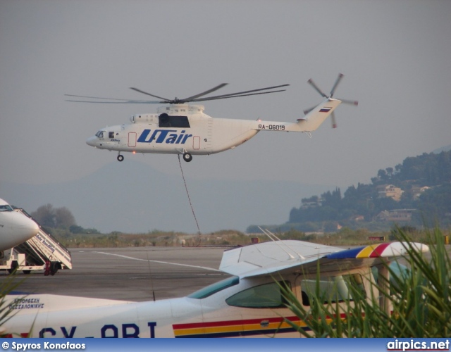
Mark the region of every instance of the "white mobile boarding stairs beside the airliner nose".
MULTIPOLYGON (((32 219, 25 210, 17 210, 32 219)), ((5 251, 4 258, 1 260, 3 263, 0 269, 6 269, 9 272, 22 270, 25 274, 29 274, 31 270, 44 270, 44 275, 47 276, 55 275, 61 269, 72 269, 70 251, 40 225, 35 237, 5 251)))

